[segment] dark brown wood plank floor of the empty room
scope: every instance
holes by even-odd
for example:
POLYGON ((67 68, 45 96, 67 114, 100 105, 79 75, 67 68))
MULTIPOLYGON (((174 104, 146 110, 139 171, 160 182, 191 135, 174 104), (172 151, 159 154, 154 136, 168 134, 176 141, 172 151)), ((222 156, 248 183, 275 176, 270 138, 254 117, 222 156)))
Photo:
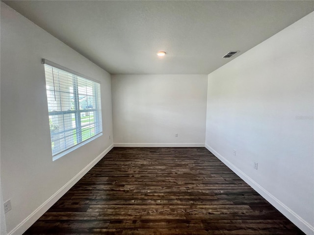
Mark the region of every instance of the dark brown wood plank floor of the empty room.
POLYGON ((206 148, 113 148, 25 235, 303 235, 206 148))

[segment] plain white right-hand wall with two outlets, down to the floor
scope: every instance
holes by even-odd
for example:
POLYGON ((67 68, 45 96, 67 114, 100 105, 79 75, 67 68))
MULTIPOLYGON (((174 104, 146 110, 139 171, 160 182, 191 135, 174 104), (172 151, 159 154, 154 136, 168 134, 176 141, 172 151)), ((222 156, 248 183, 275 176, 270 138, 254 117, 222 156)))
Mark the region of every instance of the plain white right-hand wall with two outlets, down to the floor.
POLYGON ((209 74, 206 127, 206 147, 307 234, 314 234, 313 19, 209 74))

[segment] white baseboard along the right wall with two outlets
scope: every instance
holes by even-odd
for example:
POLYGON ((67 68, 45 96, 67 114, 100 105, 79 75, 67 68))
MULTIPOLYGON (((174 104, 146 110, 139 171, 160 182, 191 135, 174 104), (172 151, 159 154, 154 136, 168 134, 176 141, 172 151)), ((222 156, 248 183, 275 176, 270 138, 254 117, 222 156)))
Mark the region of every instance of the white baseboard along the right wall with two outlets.
POLYGON ((297 213, 288 208, 284 203, 274 197, 270 192, 265 188, 256 183, 243 171, 237 168, 234 164, 229 162, 226 158, 220 155, 217 151, 211 148, 208 144, 205 144, 205 147, 215 155, 221 162, 227 165, 235 174, 237 174, 242 180, 244 180, 249 186, 256 190, 259 194, 262 195, 271 205, 273 205, 278 211, 283 213, 292 223, 294 223, 299 229, 301 229, 307 235, 314 235, 314 227, 301 218, 297 213))

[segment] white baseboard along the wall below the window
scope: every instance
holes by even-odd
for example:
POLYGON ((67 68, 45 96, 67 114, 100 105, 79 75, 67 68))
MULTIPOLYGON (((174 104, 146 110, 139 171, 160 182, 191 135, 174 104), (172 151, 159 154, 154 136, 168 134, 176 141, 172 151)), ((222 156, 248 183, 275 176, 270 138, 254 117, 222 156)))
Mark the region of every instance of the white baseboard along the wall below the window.
POLYGON ((20 224, 12 229, 7 235, 23 234, 37 219, 40 218, 49 208, 52 207, 70 188, 72 188, 95 164, 97 164, 111 149, 113 144, 107 147, 104 152, 98 155, 90 164, 86 165, 76 176, 74 176, 62 188, 56 191, 47 201, 39 206, 35 211, 28 215, 20 224))

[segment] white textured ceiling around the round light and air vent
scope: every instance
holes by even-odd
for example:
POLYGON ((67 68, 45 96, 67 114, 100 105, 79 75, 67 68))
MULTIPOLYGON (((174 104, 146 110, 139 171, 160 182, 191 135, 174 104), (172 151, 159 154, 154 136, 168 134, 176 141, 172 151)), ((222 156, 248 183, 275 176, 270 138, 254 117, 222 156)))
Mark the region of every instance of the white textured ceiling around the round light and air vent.
POLYGON ((221 58, 228 51, 314 11, 302 0, 4 2, 112 74, 209 74, 233 59, 221 58))

